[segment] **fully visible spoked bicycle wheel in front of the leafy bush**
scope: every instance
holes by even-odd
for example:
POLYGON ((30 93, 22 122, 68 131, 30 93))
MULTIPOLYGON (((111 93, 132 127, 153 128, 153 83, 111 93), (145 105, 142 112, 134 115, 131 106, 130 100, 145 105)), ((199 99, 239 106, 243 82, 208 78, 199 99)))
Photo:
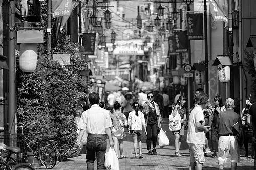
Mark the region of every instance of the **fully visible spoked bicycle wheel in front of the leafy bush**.
POLYGON ((42 165, 51 169, 57 163, 56 150, 50 140, 44 139, 39 142, 38 155, 42 165))

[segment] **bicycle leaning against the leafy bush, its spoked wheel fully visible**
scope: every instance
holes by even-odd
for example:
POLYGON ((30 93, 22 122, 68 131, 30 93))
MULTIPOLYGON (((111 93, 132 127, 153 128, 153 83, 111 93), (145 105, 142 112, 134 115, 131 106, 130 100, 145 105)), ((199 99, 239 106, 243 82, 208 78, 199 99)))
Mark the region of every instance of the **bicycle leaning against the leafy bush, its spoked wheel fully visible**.
POLYGON ((32 142, 26 135, 24 135, 23 128, 27 126, 18 126, 22 129, 22 133, 19 135, 18 146, 22 150, 18 154, 19 163, 28 162, 27 151, 32 151, 37 161, 40 161, 47 169, 53 168, 57 163, 56 149, 52 142, 48 139, 43 139, 39 142, 32 142), (35 143, 35 147, 32 147, 31 143, 35 143), (29 149, 29 150, 28 150, 29 149))

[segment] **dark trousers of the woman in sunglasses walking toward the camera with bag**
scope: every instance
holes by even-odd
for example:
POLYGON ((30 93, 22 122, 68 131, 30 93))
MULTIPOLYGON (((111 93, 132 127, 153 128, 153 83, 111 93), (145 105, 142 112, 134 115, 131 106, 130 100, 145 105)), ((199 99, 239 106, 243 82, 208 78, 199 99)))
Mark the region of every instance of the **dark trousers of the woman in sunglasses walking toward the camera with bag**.
POLYGON ((156 148, 156 145, 157 145, 157 123, 147 124, 146 133, 147 133, 147 135, 146 135, 147 150, 151 149, 151 140, 152 140, 152 147, 156 148))

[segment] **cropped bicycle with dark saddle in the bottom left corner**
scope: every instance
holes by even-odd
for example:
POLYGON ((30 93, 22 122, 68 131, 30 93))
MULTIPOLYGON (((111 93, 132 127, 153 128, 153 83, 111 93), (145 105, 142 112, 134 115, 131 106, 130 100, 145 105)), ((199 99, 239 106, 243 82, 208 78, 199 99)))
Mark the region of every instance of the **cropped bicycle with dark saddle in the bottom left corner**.
POLYGON ((27 163, 17 163, 11 155, 20 152, 19 147, 8 147, 7 145, 0 144, 0 169, 1 170, 34 170, 27 163))

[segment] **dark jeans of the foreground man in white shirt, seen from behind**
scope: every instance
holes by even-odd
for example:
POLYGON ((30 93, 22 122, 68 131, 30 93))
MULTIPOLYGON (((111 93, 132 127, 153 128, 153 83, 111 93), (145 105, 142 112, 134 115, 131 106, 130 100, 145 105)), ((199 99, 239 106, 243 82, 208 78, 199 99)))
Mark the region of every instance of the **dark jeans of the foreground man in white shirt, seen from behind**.
POLYGON ((88 170, 94 170, 95 153, 97 157, 97 169, 104 169, 106 135, 88 134, 86 143, 86 163, 88 170))

